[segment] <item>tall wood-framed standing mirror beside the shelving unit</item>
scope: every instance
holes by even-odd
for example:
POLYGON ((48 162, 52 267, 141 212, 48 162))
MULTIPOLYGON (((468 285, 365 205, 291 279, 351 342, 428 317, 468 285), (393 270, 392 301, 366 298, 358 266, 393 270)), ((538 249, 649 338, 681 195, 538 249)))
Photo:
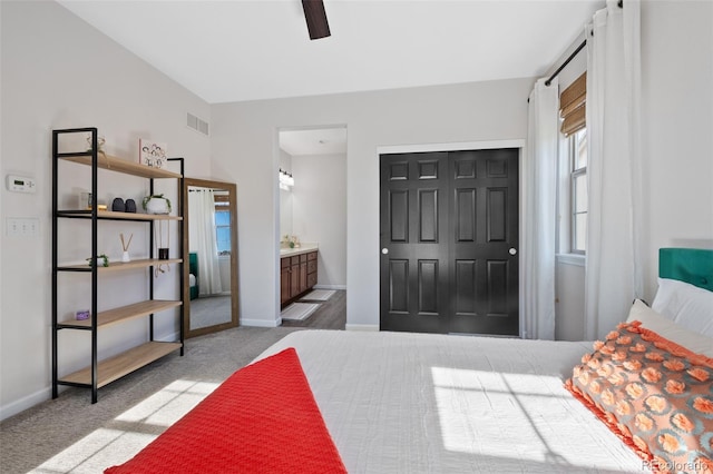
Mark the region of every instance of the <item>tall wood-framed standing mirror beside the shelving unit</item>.
POLYGON ((184 179, 184 335, 235 327, 237 205, 234 184, 184 179))

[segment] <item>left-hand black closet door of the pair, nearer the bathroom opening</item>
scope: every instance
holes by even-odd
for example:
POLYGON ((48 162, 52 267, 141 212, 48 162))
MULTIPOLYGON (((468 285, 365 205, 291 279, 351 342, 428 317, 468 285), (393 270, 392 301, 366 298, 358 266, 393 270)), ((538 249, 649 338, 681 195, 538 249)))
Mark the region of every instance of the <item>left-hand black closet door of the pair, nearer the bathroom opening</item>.
POLYGON ((448 332, 448 154, 381 156, 381 329, 448 332))

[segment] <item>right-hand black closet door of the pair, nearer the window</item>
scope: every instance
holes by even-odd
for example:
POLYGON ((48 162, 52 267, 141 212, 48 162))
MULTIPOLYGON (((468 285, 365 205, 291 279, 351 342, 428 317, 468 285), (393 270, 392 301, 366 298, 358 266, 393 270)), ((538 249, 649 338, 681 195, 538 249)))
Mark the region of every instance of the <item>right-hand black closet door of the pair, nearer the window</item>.
POLYGON ((449 157, 449 333, 519 334, 518 150, 449 157))

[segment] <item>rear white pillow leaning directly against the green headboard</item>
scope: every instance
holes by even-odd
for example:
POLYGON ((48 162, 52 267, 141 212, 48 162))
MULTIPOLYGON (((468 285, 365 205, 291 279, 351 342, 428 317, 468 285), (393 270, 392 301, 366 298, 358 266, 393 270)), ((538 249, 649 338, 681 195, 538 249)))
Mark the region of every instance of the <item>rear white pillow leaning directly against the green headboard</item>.
POLYGON ((651 307, 686 329, 713 337, 713 292, 658 278, 658 290, 651 307))

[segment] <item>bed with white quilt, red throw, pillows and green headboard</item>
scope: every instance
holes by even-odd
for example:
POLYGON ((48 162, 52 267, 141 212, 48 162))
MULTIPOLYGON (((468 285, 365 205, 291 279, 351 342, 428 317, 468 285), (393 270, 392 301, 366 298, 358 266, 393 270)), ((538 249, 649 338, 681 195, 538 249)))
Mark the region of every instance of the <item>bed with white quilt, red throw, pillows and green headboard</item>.
MULTIPOLYGON (((253 416, 254 406, 245 408, 248 422, 217 416, 213 429, 225 433, 228 444, 236 436, 265 437, 250 468, 246 461, 233 458, 213 472, 713 472, 713 333, 704 334, 713 316, 701 317, 713 310, 713 299, 706 299, 713 297, 713 250, 662 249, 661 263, 662 295, 652 306, 673 313, 662 316, 635 302, 627 320, 594 346, 388 332, 292 333, 234 375, 252 374, 250 382, 225 384, 225 392, 262 384, 264 392, 219 394, 222 385, 196 407, 225 406, 237 397, 263 407, 274 403, 266 412, 282 416, 275 438, 266 436, 273 416, 253 416), (664 292, 668 280, 683 280, 701 294, 664 292), (255 372, 261 368, 265 372, 255 372), (283 385, 281 373, 304 384, 283 385), (285 394, 304 396, 306 404, 285 394), (292 431, 292 425, 281 431, 305 413, 314 415, 313 432, 292 431), (302 451, 306 445, 323 446, 325 453, 314 468, 309 452, 302 451), (295 438, 297 447, 291 444, 295 438), (275 456, 296 460, 300 468, 270 464, 275 456)), ((168 428, 174 442, 162 446, 165 433, 108 472, 152 472, 149 464, 165 453, 160 450, 185 453, 189 443, 184 434, 195 437, 196 423, 211 416, 203 408, 205 413, 186 415, 193 425, 168 428), (152 451, 156 442, 160 450, 152 451)), ((205 441, 198 440, 198 450, 205 441)), ((245 454, 241 443, 232 447, 236 455, 245 454)), ((175 472, 191 472, 186 462, 177 462, 182 468, 175 472)), ((195 472, 212 471, 201 466, 195 472)))

